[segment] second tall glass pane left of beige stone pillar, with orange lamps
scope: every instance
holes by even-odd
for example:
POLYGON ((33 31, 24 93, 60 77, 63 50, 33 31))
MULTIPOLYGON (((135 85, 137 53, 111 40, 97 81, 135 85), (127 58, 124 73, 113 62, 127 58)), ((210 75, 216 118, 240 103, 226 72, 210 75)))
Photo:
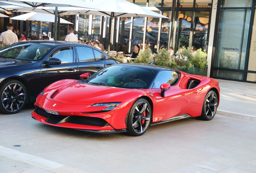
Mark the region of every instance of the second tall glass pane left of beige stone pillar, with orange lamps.
POLYGON ((182 46, 185 46, 185 47, 189 46, 192 13, 193 13, 192 11, 179 12, 179 16, 177 20, 175 50, 178 50, 182 46))

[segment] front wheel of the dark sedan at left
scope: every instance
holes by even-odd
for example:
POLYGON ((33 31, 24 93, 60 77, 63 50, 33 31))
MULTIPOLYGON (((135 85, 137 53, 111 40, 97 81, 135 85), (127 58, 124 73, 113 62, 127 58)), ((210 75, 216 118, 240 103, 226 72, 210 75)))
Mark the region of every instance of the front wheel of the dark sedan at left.
POLYGON ((21 111, 27 101, 27 90, 18 80, 9 80, 0 87, 0 112, 14 114, 21 111))

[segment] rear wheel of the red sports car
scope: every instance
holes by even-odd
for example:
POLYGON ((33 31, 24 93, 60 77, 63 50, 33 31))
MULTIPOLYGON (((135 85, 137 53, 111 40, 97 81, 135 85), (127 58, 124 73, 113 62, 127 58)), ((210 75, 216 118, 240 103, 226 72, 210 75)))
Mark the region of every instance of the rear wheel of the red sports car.
POLYGON ((204 98, 204 103, 202 107, 202 114, 199 117, 196 117, 197 119, 209 121, 213 119, 217 112, 217 107, 218 107, 218 97, 215 91, 210 90, 205 98, 204 98))

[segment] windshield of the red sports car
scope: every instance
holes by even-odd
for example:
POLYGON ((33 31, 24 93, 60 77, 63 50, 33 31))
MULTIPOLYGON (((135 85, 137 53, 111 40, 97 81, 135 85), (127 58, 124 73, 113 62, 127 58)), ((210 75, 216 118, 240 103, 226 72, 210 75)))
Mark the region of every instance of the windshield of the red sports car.
POLYGON ((140 66, 114 65, 104 68, 86 82, 111 87, 148 89, 154 72, 140 66))

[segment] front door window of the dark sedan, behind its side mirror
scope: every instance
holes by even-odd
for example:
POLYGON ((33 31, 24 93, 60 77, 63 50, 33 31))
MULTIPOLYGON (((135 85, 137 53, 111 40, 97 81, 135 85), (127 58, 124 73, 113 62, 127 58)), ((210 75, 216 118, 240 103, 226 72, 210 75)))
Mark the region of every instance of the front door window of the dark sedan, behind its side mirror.
POLYGON ((62 64, 73 62, 73 49, 72 47, 59 48, 54 51, 50 58, 58 58, 62 64))

